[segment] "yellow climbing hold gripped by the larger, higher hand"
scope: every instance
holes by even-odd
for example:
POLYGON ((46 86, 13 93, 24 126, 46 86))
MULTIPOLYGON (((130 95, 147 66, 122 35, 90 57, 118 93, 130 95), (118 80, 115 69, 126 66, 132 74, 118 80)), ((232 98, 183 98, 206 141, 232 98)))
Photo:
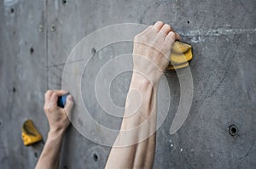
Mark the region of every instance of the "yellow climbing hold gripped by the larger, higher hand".
POLYGON ((172 45, 170 64, 168 70, 180 69, 189 66, 189 61, 193 58, 192 47, 189 44, 176 41, 172 45))

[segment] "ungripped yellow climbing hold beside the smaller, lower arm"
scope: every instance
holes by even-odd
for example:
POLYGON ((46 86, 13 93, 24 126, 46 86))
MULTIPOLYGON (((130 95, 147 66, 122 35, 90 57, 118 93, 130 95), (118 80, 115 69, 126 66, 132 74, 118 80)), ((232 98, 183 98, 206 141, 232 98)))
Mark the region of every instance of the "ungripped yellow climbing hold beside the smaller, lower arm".
POLYGON ((34 126, 32 120, 27 120, 23 123, 21 137, 23 139, 23 144, 26 146, 38 143, 43 139, 42 135, 34 126))

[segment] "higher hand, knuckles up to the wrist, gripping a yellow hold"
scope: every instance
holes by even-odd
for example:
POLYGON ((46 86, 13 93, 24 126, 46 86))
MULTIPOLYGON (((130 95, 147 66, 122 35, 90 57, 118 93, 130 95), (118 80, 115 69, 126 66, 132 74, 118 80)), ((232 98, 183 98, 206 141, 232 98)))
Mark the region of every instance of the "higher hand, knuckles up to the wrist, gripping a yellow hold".
POLYGON ((157 82, 169 64, 175 40, 180 40, 180 37, 170 25, 158 21, 148 26, 134 38, 133 70, 157 82))

